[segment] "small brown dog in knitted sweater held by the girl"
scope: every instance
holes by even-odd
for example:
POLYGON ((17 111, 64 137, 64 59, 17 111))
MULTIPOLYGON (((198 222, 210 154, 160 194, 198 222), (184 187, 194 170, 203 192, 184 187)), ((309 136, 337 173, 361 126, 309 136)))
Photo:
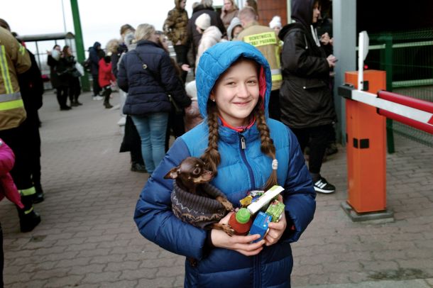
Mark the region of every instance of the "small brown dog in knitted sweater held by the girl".
POLYGON ((172 168, 164 178, 175 179, 175 189, 171 196, 173 213, 182 221, 193 226, 222 230, 232 236, 234 230, 231 226, 218 222, 226 216, 228 211, 234 211, 234 208, 219 189, 209 184, 213 177, 213 173, 206 170, 203 160, 197 157, 187 157, 180 162, 179 166, 172 168), (182 194, 185 192, 194 196, 182 194), (202 197, 217 200, 217 203, 211 203, 214 200, 203 200, 202 197), (197 199, 196 202, 202 207, 185 207, 187 205, 185 202, 190 204, 194 199, 197 199), (209 205, 207 205, 208 202, 209 205), (197 208, 209 209, 209 211, 197 211, 197 208))

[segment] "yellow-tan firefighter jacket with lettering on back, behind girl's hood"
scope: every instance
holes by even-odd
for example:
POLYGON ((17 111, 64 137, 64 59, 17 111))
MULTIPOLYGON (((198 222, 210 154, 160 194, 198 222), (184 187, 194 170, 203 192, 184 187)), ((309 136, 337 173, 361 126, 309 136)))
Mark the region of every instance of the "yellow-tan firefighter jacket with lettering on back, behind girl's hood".
POLYGON ((236 40, 242 40, 256 47, 269 62, 272 74, 272 90, 280 89, 283 76, 280 64, 280 39, 268 26, 253 23, 239 33, 236 40))

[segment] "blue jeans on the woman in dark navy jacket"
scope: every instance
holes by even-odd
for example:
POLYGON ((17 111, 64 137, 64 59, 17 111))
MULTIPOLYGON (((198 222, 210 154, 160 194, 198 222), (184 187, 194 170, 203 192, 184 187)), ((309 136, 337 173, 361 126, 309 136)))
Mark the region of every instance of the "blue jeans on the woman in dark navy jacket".
POLYGON ((160 164, 165 155, 165 131, 168 113, 150 113, 131 116, 141 138, 141 154, 149 174, 160 164))

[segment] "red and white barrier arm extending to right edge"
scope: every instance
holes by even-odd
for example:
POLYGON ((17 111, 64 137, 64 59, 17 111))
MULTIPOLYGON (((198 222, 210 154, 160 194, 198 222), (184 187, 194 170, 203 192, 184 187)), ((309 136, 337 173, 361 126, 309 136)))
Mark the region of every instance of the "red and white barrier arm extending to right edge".
MULTIPOLYGON (((348 97, 349 98, 349 97, 348 97)), ((353 89, 350 99, 378 108, 378 113, 433 134, 433 103, 391 92, 378 95, 353 89)))

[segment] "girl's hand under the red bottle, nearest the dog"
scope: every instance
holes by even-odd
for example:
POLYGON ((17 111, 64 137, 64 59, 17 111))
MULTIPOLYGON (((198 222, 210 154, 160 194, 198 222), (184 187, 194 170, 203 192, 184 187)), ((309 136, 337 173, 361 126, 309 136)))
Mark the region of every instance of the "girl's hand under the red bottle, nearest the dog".
MULTIPOLYGON (((227 224, 229 223, 229 218, 231 212, 227 214, 224 218, 219 221, 219 223, 227 224)), ((246 256, 257 255, 263 250, 263 244, 265 240, 258 241, 257 243, 251 243, 251 241, 260 238, 260 235, 248 235, 248 236, 228 236, 224 231, 212 229, 211 239, 212 244, 218 248, 226 248, 230 250, 235 250, 246 256)))

